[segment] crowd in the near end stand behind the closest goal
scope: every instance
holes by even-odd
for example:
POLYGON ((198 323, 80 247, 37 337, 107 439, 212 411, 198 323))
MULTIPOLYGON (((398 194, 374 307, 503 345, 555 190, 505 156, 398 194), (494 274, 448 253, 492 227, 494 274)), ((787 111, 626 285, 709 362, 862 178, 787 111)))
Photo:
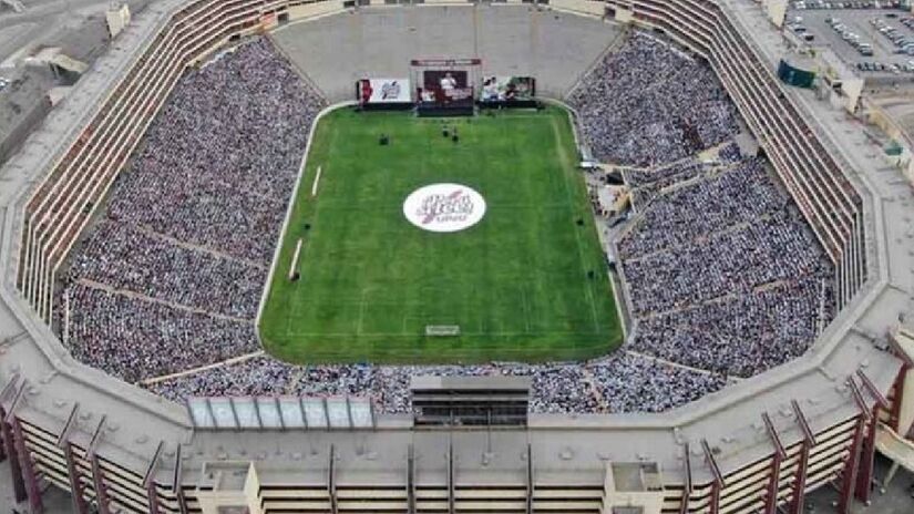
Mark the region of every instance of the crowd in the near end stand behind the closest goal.
POLYGON ((697 400, 726 384, 722 374, 700 373, 620 353, 590 363, 486 366, 311 366, 257 357, 224 368, 147 386, 181 401, 206 395, 359 395, 387 413, 412 412, 414 376, 523 376, 533 379, 535 413, 660 412, 697 400))

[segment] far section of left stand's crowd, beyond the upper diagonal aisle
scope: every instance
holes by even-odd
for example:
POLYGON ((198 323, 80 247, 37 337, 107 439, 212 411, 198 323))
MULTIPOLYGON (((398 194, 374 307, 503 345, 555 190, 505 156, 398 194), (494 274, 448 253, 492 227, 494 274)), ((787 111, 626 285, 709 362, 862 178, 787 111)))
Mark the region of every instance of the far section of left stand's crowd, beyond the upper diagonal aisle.
POLYGON ((266 39, 191 71, 121 176, 109 217, 269 266, 322 106, 266 39))

